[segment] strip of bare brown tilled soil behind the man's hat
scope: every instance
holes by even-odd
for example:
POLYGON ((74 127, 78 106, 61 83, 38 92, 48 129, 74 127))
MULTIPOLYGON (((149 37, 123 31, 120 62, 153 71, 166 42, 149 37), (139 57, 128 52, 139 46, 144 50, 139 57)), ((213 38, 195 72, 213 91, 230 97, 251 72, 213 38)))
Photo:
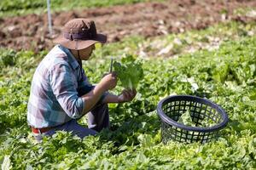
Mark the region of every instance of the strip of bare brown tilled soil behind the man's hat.
MULTIPOLYGON (((236 8, 255 8, 254 0, 170 0, 165 3, 137 3, 109 8, 58 12, 52 15, 55 36, 67 20, 77 17, 96 21, 108 42, 125 36, 154 37, 207 26, 227 20, 247 22, 255 17, 234 14, 236 8)), ((55 37, 52 36, 52 37, 55 37)), ((0 19, 0 47, 39 51, 52 46, 47 14, 28 14, 0 19)))

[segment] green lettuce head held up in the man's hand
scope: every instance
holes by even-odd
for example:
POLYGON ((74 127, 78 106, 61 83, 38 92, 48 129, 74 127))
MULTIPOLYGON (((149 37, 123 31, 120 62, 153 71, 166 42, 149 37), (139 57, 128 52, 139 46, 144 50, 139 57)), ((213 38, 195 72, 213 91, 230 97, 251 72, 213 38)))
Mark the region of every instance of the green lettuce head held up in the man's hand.
POLYGON ((121 59, 121 62, 114 61, 113 63, 113 69, 126 89, 137 88, 138 82, 144 77, 142 66, 143 64, 131 55, 121 59))

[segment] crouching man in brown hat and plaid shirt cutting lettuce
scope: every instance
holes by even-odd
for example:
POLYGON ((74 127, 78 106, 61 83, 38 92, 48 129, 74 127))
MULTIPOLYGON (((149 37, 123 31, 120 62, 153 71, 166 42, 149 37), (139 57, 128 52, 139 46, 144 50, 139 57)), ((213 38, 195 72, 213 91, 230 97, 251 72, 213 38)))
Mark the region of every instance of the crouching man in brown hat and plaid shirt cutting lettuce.
POLYGON ((57 130, 72 132, 80 138, 95 135, 109 127, 108 103, 134 99, 135 89, 125 89, 119 95, 108 93, 117 84, 114 72, 96 86, 92 86, 84 74, 81 60, 90 59, 96 42, 106 41, 105 35, 96 32, 95 23, 86 19, 70 20, 61 36, 54 40, 55 47, 33 75, 27 105, 27 122, 38 141, 57 130), (85 114, 88 128, 77 122, 85 114))

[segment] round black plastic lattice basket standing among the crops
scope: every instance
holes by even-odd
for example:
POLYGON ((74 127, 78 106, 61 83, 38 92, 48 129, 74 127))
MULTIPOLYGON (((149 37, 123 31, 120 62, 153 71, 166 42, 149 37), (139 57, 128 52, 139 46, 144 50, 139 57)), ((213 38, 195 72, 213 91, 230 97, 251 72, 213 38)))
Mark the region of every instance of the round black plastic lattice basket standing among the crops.
POLYGON ((229 121, 227 114, 219 105, 209 99, 190 95, 174 95, 162 99, 157 105, 157 113, 160 116, 162 141, 165 144, 170 139, 185 143, 207 143, 214 139, 218 130, 224 128, 229 121), (177 122, 187 110, 190 111, 195 127, 177 122), (201 127, 202 121, 214 122, 214 125, 201 127))

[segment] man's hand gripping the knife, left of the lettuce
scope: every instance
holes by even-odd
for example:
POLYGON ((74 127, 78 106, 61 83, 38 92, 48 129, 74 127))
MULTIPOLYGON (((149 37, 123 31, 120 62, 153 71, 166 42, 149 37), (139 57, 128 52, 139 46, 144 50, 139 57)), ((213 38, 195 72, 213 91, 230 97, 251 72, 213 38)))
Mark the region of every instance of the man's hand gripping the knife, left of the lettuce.
POLYGON ((116 87, 117 84, 117 76, 115 72, 111 72, 105 77, 102 78, 101 82, 99 83, 106 91, 109 89, 113 89, 116 87))

